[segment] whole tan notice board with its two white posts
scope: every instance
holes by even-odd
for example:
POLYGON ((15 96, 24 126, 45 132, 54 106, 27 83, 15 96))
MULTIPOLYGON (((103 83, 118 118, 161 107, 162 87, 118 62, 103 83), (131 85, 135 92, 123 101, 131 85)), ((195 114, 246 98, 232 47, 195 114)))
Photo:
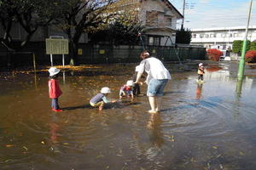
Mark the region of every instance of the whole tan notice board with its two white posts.
POLYGON ((53 66, 53 54, 62 54, 62 65, 65 66, 64 54, 68 54, 68 40, 62 36, 51 36, 45 39, 46 54, 50 55, 50 64, 53 66))

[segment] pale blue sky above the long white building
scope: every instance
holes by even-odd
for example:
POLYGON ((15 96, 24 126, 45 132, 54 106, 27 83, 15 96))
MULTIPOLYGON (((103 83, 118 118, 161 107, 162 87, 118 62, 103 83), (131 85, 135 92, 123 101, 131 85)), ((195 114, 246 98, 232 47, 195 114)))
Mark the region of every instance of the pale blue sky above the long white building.
MULTIPOLYGON (((183 0, 169 0, 183 14, 183 0)), ((184 28, 247 26, 251 0, 185 0, 184 28)), ((182 20, 178 20, 180 28, 182 20)), ((256 0, 249 26, 256 26, 256 0)))

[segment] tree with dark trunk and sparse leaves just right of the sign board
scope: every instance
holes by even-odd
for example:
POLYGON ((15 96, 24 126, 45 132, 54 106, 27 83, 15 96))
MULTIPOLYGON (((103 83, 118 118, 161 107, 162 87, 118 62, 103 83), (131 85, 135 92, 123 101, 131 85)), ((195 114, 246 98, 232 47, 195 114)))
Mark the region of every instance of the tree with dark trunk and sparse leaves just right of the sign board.
POLYGON ((59 17, 56 26, 67 34, 70 49, 70 65, 78 65, 78 45, 81 35, 85 31, 94 30, 112 16, 108 13, 108 6, 113 0, 59 0, 59 17))

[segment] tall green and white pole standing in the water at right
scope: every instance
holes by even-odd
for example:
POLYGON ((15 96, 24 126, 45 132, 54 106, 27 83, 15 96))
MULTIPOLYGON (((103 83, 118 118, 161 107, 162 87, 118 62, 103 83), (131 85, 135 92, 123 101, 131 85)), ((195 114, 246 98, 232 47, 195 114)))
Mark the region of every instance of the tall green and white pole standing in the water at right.
POLYGON ((244 75, 244 56, 246 54, 246 48, 247 48, 247 33, 248 33, 248 26, 249 26, 250 18, 251 18, 252 5, 253 5, 253 0, 251 0, 250 6, 249 6, 246 33, 245 33, 244 41, 242 44, 241 59, 239 62, 239 68, 238 68, 238 73, 237 73, 237 78, 239 81, 242 80, 243 75, 244 75))

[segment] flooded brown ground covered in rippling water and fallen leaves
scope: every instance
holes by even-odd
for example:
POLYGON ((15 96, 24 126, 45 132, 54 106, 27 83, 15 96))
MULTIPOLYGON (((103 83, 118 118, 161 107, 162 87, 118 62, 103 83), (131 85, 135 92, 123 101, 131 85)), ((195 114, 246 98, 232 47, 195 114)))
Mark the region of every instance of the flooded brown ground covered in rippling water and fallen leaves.
POLYGON ((135 65, 62 71, 59 113, 50 111, 46 71, 0 73, 0 169, 255 169, 256 69, 246 67, 237 94, 236 62, 209 62, 203 84, 197 64, 166 65, 172 81, 156 115, 145 96, 101 112, 89 105, 104 86, 119 99, 135 65))

